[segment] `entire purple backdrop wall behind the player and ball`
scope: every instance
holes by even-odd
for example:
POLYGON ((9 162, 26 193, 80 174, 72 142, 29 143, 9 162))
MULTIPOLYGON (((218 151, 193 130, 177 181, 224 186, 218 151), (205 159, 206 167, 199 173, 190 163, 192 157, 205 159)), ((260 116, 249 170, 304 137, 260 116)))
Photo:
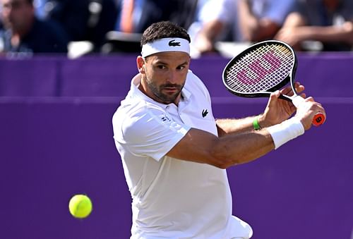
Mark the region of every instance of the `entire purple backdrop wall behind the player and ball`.
MULTIPOLYGON (((215 116, 261 113, 265 99, 233 97, 222 87, 227 61, 212 56, 191 64, 210 87, 215 116)), ((0 238, 128 238, 131 199, 111 120, 134 62, 0 60, 0 238), (68 214, 76 193, 92 198, 87 219, 68 214)), ((251 223, 253 238, 351 238, 352 66, 348 54, 299 56, 297 78, 325 105, 328 121, 258 161, 229 168, 234 214, 251 223)))

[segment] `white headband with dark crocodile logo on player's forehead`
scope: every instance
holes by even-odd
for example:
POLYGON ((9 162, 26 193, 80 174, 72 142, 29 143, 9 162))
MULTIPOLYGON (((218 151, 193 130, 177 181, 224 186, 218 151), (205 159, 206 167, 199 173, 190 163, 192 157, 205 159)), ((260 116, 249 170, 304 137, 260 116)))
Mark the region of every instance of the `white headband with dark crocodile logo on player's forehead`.
POLYGON ((141 55, 143 57, 163 51, 183 51, 190 54, 190 44, 183 38, 162 38, 153 42, 148 42, 142 46, 141 55))

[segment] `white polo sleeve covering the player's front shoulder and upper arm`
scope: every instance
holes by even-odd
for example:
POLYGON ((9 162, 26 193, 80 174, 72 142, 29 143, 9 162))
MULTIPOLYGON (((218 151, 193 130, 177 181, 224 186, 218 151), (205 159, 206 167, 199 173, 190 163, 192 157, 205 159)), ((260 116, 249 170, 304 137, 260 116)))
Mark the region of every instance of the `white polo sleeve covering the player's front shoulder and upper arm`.
POLYGON ((159 161, 190 130, 161 109, 144 109, 121 124, 121 142, 131 154, 159 161))

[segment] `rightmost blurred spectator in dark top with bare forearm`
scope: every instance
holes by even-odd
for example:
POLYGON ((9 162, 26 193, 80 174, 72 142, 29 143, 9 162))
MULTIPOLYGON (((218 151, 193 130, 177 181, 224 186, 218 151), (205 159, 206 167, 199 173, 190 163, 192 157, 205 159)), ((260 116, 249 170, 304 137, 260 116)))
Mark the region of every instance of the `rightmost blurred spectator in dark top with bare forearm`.
POLYGON ((276 39, 297 50, 349 51, 353 46, 352 0, 300 0, 276 39))

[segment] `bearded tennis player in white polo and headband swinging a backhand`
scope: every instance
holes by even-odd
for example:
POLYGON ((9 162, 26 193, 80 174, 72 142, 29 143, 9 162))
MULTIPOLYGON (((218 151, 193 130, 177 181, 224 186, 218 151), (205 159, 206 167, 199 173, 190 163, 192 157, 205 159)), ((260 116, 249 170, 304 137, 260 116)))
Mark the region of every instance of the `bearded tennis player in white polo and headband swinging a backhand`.
POLYGON ((113 116, 132 196, 131 238, 251 238, 251 226, 232 216, 225 168, 302 135, 325 111, 309 97, 289 118, 295 108, 277 91, 259 116, 215 120, 208 90, 189 69, 189 43, 173 23, 150 25, 139 73, 113 116))

